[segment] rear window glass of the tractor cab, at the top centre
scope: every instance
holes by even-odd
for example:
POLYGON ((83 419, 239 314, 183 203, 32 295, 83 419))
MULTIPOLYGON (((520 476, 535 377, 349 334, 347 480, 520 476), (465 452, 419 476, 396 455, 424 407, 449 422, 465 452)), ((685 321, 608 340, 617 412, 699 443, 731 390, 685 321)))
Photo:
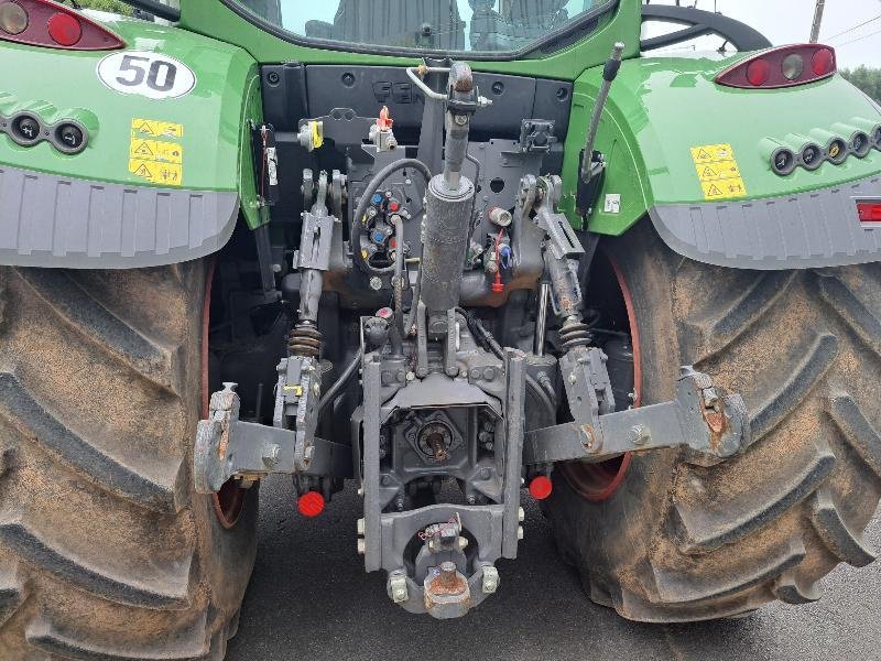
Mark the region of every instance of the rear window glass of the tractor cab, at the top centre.
POLYGON ((616 0, 228 0, 295 41, 407 52, 514 53, 590 28, 616 0), (585 25, 587 23, 587 25, 585 25), (298 37, 298 39, 297 39, 298 37))

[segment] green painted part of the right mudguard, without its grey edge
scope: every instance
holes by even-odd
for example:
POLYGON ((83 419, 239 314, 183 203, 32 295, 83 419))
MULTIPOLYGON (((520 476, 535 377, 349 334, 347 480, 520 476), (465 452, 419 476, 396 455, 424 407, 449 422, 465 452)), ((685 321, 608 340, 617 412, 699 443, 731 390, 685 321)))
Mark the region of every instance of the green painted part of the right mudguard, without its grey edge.
MULTIPOLYGON (((612 87, 597 139, 609 162, 600 204, 588 227, 620 235, 654 205, 707 202, 692 148, 730 144, 748 195, 738 201, 780 197, 866 178, 881 173, 881 151, 841 165, 824 163, 790 176, 771 170, 774 143, 798 150, 814 141, 825 147, 830 134, 846 140, 867 123, 881 123, 881 110, 840 75, 788 89, 746 90, 722 87, 714 78, 733 57, 641 57, 623 63, 612 87), (855 120, 861 119, 862 122, 855 120), (621 195, 618 214, 605 213, 605 194, 621 195)), ((584 133, 601 71, 575 83, 573 119, 566 138, 564 208, 575 218, 575 184, 584 133)))

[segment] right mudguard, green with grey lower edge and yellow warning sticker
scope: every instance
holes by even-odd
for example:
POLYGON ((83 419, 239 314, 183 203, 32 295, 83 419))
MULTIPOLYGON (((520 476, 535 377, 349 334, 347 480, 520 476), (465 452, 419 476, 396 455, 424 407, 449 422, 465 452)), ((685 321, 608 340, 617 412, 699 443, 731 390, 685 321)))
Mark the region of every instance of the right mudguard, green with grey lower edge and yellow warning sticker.
MULTIPOLYGON (((624 62, 603 113, 597 149, 608 170, 590 230, 621 235, 646 214, 664 241, 690 259, 730 268, 792 269, 881 260, 881 229, 860 223, 857 202, 881 198, 881 108, 840 75, 787 89, 715 83, 735 57, 624 62), (841 164, 782 176, 775 149, 825 150, 858 131, 872 149, 841 164)), ((600 84, 575 86, 570 127, 588 123, 600 84)), ((584 133, 570 129, 564 177, 577 181, 584 133)), ((568 189, 573 217, 575 192, 568 189)))

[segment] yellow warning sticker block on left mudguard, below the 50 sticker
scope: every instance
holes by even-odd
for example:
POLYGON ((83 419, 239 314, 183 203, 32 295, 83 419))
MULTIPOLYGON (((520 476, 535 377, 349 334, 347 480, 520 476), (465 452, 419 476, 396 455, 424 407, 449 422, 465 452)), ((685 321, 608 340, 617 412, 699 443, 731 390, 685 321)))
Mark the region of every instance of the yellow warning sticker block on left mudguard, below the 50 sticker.
POLYGON ((152 119, 131 120, 129 173, 152 184, 180 186, 184 178, 184 127, 152 119), (156 140, 163 138, 163 140, 156 140))

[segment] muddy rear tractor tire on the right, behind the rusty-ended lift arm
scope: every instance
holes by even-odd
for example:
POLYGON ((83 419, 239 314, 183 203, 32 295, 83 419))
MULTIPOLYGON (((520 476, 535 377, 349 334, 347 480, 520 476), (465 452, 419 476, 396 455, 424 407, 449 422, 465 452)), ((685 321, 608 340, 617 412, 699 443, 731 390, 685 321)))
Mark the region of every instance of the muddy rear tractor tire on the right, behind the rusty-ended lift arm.
POLYGON ((743 395, 753 440, 711 466, 665 451, 558 469, 547 511, 590 598, 640 621, 733 617, 814 602, 839 562, 872 562, 881 264, 711 267, 648 221, 606 254, 629 306, 637 399, 672 399, 678 366, 695 365, 743 395))

